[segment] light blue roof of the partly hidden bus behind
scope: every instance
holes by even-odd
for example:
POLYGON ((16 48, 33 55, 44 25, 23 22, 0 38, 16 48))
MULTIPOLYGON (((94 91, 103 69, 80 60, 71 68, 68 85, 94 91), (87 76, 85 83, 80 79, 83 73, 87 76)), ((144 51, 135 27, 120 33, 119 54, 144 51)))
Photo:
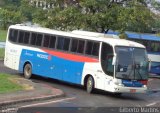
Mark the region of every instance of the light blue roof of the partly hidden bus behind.
MULTIPOLYGON (((160 41, 160 36, 154 34, 145 34, 145 33, 134 33, 134 32, 125 32, 129 39, 139 39, 139 40, 151 40, 151 41, 160 41)), ((118 35, 119 32, 109 31, 108 34, 118 35)))

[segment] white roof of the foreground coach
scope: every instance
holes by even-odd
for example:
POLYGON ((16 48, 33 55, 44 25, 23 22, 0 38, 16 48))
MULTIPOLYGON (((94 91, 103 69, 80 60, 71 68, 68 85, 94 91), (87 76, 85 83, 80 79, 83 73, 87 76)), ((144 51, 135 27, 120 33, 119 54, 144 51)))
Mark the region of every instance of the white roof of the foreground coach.
POLYGON ((142 44, 139 44, 139 43, 136 43, 133 41, 128 41, 125 39, 119 39, 119 38, 115 37, 115 35, 104 35, 103 34, 103 36, 102 36, 102 33, 88 32, 88 31, 65 32, 65 31, 57 31, 57 30, 43 28, 43 27, 37 27, 37 26, 26 26, 23 24, 11 25, 9 28, 106 42, 112 46, 134 46, 134 47, 145 48, 142 44))

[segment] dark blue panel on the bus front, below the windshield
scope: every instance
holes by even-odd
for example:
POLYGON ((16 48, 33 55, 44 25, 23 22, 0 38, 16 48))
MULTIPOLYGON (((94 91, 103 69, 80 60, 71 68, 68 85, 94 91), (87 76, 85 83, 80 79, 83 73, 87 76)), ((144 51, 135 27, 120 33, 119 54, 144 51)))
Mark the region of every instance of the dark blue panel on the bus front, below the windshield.
POLYGON ((122 84, 126 87, 142 87, 143 84, 139 81, 122 80, 122 84))

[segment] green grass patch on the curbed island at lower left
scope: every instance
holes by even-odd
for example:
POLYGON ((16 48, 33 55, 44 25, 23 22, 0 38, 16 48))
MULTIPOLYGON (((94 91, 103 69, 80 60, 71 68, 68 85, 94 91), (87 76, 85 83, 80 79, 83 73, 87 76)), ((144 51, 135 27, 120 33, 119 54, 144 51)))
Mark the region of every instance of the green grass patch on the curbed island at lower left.
POLYGON ((23 90, 23 87, 17 83, 14 83, 12 79, 16 78, 15 76, 8 74, 0 74, 0 93, 10 93, 14 91, 23 90))

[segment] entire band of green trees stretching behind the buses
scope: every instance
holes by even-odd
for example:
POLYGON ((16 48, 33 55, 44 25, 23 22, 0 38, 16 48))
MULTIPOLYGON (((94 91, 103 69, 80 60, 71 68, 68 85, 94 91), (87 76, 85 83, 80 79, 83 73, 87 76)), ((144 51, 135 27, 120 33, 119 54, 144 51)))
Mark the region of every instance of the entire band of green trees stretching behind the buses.
POLYGON ((120 32, 125 30, 146 32, 151 29, 155 20, 147 5, 155 3, 149 0, 46 0, 46 2, 53 3, 54 8, 37 8, 28 0, 0 0, 1 20, 4 21, 3 24, 33 21, 53 29, 83 29, 97 32, 107 32, 109 29, 120 32), (6 12, 8 15, 5 15, 6 12))

